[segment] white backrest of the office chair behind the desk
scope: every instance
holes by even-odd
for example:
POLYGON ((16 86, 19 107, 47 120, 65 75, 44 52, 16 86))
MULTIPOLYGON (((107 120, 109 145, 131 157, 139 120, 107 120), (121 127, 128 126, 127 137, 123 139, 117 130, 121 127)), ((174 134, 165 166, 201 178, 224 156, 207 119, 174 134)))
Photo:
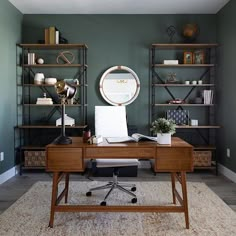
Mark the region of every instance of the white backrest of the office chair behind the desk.
POLYGON ((95 106, 95 135, 127 137, 125 106, 95 106))

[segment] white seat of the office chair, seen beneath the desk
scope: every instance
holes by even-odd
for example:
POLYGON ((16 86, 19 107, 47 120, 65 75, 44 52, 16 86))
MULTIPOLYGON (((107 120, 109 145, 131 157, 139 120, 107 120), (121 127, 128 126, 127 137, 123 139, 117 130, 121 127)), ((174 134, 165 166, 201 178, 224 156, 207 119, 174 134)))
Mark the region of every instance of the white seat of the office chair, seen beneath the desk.
POLYGON ((138 166, 138 159, 97 159, 97 168, 138 166))

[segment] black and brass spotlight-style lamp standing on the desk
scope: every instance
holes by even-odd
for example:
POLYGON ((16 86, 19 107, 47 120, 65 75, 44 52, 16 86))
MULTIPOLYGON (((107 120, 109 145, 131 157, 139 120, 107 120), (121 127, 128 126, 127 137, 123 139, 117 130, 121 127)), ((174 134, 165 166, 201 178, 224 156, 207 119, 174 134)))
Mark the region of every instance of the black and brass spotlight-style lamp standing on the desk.
POLYGON ((72 140, 65 135, 65 102, 67 99, 72 99, 76 94, 76 87, 68 84, 64 81, 58 81, 55 84, 56 92, 61 99, 61 135, 58 136, 53 143, 54 144, 71 144, 72 140))

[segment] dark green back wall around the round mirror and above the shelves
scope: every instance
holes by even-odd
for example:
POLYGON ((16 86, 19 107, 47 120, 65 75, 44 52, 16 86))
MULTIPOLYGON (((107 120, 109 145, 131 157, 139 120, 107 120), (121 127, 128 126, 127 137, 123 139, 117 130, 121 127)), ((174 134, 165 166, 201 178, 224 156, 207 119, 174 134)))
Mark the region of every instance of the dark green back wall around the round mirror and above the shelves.
MULTIPOLYGON (((166 43, 166 28, 180 32, 184 24, 196 22, 201 33, 198 42, 216 41, 215 15, 24 15, 23 41, 36 43, 44 38, 44 28, 56 26, 70 43, 88 45, 88 116, 93 124, 94 106, 106 104, 98 92, 101 74, 110 66, 132 68, 141 81, 137 100, 127 106, 129 124, 148 133, 149 48, 166 43)), ((176 42, 182 42, 180 35, 176 42)))

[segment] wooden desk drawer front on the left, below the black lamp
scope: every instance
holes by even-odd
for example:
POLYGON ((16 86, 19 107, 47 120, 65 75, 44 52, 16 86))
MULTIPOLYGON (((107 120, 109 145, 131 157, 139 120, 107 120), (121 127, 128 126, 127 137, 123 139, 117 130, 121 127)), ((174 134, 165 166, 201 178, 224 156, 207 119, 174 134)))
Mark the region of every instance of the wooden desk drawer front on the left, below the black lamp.
POLYGON ((71 171, 84 170, 82 148, 48 148, 46 152, 48 171, 71 171))

